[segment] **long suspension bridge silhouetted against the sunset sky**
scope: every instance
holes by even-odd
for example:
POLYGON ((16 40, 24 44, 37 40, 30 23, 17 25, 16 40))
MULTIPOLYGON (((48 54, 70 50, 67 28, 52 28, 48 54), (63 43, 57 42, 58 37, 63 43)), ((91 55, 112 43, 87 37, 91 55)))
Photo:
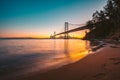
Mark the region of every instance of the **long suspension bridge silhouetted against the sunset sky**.
POLYGON ((50 38, 52 39, 55 39, 56 36, 58 35, 64 35, 64 39, 69 39, 69 33, 72 33, 72 32, 76 32, 76 31, 81 31, 81 30, 85 30, 85 29, 88 29, 88 26, 86 26, 85 24, 71 24, 71 23, 68 23, 68 22, 65 22, 64 24, 64 31, 63 32, 60 32, 60 33, 57 33, 54 32, 54 35, 50 36, 50 38), (69 26, 70 25, 76 25, 78 26, 77 28, 73 28, 73 29, 69 29, 69 26))

